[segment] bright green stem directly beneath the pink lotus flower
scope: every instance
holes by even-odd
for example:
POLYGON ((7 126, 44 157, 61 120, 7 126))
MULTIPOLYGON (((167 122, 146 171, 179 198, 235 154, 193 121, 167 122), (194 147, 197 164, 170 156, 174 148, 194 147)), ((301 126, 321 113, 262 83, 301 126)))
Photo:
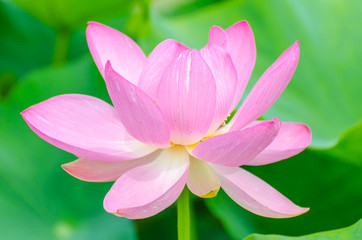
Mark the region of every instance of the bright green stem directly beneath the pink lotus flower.
POLYGON ((177 200, 177 232, 178 240, 190 240, 190 200, 187 187, 177 200))

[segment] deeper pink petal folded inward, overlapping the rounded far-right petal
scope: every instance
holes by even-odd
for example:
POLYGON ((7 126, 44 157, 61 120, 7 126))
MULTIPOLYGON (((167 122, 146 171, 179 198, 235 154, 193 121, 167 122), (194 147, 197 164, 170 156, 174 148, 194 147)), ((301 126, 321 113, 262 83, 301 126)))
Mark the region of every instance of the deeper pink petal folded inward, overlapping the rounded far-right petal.
POLYGON ((199 143, 192 155, 225 166, 241 166, 251 161, 276 137, 280 121, 265 121, 250 128, 208 138, 199 143))

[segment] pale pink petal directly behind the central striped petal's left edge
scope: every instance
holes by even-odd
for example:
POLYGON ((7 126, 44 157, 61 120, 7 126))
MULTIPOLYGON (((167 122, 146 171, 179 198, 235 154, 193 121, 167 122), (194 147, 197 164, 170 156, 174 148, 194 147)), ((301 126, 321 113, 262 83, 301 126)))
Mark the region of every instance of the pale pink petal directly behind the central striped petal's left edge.
POLYGON ((163 73, 181 52, 187 48, 175 40, 167 39, 151 52, 142 71, 138 87, 156 99, 158 85, 163 73))

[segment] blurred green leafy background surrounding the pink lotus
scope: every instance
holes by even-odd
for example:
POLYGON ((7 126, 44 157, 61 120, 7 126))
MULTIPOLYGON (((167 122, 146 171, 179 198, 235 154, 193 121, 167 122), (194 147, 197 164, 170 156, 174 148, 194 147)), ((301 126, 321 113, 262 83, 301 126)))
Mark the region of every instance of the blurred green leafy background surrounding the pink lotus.
MULTIPOLYGON (((213 199, 193 198, 193 230, 198 239, 243 239, 356 223, 362 217, 361 12, 359 0, 0 0, 0 239, 176 239, 174 206, 137 221, 106 213, 103 197, 111 183, 68 175, 60 165, 75 157, 37 137, 19 114, 65 93, 110 102, 88 52, 87 21, 125 32, 148 54, 166 38, 201 48, 212 25, 227 28, 245 19, 257 45, 248 90, 300 40, 296 73, 264 117, 308 124, 312 145, 288 160, 246 169, 311 210, 291 219, 263 218, 221 191, 213 199)), ((305 239, 362 239, 360 226, 305 239)))

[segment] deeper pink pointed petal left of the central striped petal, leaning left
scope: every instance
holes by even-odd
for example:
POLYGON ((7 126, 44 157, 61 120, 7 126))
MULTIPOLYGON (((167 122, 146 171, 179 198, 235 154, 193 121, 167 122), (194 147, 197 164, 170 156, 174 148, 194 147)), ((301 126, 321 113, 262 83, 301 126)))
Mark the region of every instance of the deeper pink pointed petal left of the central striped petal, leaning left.
POLYGON ((106 64, 106 84, 118 116, 139 141, 163 148, 170 145, 170 130, 160 108, 147 94, 106 64))

